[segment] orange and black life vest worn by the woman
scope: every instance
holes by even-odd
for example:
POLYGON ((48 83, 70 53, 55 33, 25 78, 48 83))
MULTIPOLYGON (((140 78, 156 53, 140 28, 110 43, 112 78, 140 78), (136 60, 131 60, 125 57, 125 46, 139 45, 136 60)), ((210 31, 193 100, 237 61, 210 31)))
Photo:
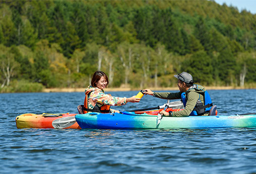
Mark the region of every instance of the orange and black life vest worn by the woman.
POLYGON ((85 93, 85 101, 84 101, 83 113, 84 114, 86 114, 88 112, 109 113, 110 112, 110 105, 102 105, 101 107, 96 107, 96 108, 94 107, 93 109, 88 109, 88 97, 90 96, 91 92, 92 91, 87 91, 85 93))

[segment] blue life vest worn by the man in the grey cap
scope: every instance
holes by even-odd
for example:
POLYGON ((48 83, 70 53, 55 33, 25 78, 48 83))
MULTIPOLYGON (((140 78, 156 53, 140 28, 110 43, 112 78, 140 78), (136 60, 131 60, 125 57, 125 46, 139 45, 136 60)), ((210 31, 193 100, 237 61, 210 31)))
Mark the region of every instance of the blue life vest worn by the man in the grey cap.
POLYGON ((187 95, 187 93, 189 93, 191 91, 194 91, 196 93, 203 95, 205 105, 203 105, 203 103, 200 101, 200 97, 199 97, 194 110, 190 113, 189 116, 203 115, 203 114, 209 112, 213 106, 211 97, 210 97, 209 93, 203 88, 203 86, 198 85, 198 84, 194 84, 189 90, 187 90, 186 92, 181 94, 181 101, 183 103, 183 106, 184 107, 186 106, 186 101, 187 101, 186 95, 187 95))

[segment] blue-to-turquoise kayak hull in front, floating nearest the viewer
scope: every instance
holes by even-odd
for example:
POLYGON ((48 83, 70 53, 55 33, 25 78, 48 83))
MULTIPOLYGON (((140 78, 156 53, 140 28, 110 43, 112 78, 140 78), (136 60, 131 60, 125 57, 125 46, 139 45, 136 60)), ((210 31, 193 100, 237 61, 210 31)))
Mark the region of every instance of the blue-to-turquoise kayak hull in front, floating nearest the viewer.
POLYGON ((256 127, 256 115, 163 117, 158 126, 156 115, 134 112, 78 114, 75 118, 82 129, 256 127))

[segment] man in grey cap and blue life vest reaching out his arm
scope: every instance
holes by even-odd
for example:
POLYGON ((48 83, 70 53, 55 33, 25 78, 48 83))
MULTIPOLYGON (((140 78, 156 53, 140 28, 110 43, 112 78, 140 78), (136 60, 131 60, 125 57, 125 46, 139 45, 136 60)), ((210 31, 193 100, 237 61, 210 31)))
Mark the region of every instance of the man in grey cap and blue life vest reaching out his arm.
POLYGON ((193 84, 193 77, 187 72, 174 75, 178 79, 178 93, 154 93, 150 89, 145 89, 144 94, 160 99, 181 99, 185 109, 177 112, 161 111, 164 116, 187 117, 206 116, 212 108, 212 100, 205 88, 198 84, 193 84))

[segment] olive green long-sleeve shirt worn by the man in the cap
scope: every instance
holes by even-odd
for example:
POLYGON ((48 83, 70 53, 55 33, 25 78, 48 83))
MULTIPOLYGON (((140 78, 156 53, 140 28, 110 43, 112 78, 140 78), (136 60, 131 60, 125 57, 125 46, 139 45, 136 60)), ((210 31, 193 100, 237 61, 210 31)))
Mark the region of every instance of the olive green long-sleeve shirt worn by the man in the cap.
MULTIPOLYGON (((154 93, 154 97, 160 98, 160 99, 181 99, 181 92, 178 93, 154 93)), ((177 112, 172 112, 172 117, 187 117, 189 114, 194 110, 197 101, 200 100, 203 104, 204 103, 204 96, 195 92, 195 91, 190 91, 187 93, 187 101, 186 101, 186 106, 184 110, 177 111, 177 112)), ((206 114, 207 115, 207 114, 206 114)))

